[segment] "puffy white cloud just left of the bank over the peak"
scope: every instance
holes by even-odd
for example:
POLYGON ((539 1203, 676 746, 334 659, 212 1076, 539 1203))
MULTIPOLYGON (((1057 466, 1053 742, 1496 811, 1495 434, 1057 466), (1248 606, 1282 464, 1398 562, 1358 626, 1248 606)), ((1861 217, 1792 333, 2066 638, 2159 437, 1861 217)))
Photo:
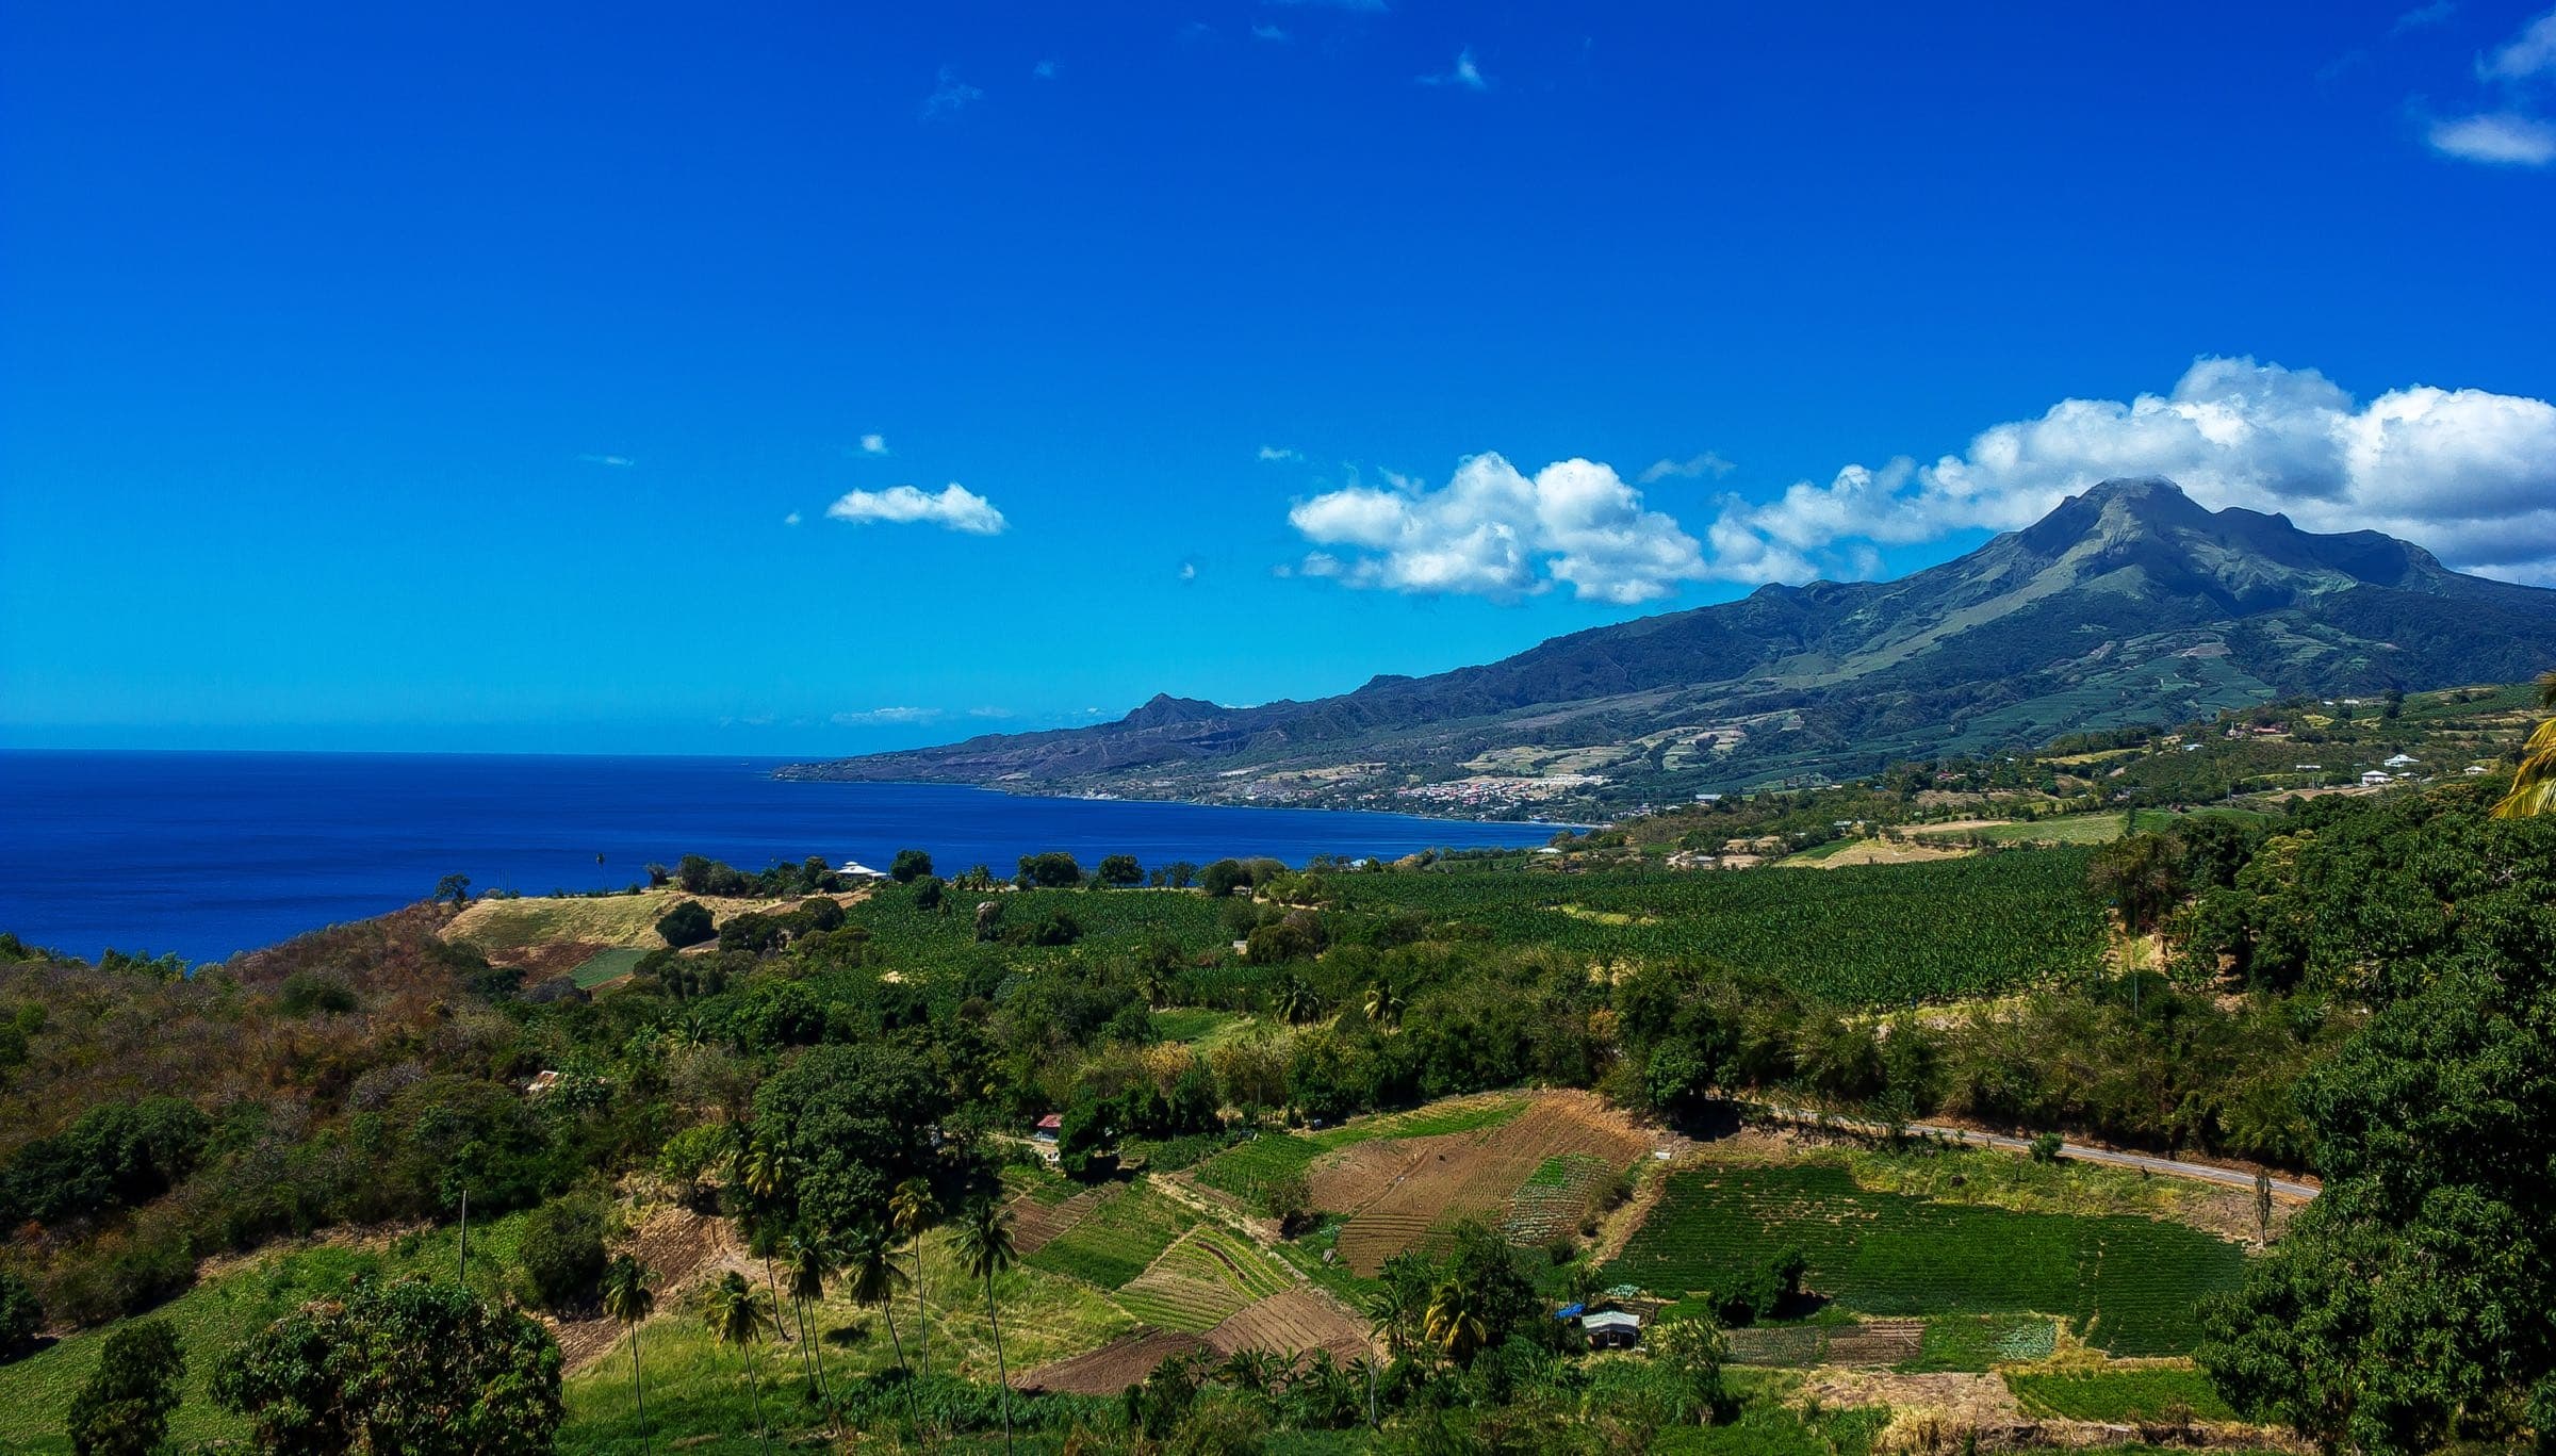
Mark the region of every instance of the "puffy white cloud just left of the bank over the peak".
POLYGON ((1534 478, 1470 455, 1442 490, 1347 485, 1288 511, 1319 549, 1296 567, 1352 588, 1516 600, 1564 582, 1585 600, 1659 600, 1700 580, 1695 536, 1592 460, 1534 478))

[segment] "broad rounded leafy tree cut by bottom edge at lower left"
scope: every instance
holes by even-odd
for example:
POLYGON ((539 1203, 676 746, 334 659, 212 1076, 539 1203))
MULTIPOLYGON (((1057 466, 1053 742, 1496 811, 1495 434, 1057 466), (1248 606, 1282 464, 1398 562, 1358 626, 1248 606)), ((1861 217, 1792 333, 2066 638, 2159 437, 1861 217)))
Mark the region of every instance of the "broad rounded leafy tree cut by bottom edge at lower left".
POLYGON ((212 1395, 271 1456, 547 1456, 560 1346, 463 1285, 358 1280, 233 1349, 212 1395))

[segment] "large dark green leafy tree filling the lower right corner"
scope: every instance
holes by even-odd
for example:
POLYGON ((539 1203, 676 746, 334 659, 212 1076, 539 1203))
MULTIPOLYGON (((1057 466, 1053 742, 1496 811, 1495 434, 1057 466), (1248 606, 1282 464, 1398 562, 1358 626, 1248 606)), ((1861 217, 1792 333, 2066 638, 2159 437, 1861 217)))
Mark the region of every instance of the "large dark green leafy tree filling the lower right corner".
POLYGON ((2556 914, 2548 840, 2520 833, 2484 838, 2538 846, 2518 884, 2474 884, 2449 945, 2382 966, 2369 1022, 2298 1081, 2323 1190, 2203 1305, 2229 1402, 2329 1448, 2556 1430, 2556 914))

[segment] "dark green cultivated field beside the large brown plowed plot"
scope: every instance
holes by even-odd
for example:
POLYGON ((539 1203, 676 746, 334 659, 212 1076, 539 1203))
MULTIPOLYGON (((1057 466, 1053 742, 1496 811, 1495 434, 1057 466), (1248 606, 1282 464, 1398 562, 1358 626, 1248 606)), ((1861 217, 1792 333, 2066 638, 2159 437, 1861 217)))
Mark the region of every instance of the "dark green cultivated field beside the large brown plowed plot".
POLYGON ((1674 1172, 1605 1267, 1661 1295, 1713 1290, 1779 1249, 1810 1254, 1807 1287, 1868 1316, 2068 1316, 2114 1354, 2183 1354, 2193 1305, 2239 1280, 2244 1252, 2183 1224, 2073 1218, 1868 1193, 1843 1167, 1674 1172))

